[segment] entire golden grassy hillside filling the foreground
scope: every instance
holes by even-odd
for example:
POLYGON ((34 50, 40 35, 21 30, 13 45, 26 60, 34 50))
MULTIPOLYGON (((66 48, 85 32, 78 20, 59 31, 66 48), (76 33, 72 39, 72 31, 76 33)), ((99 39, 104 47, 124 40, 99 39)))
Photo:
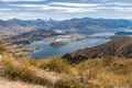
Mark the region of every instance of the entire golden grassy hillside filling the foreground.
POLYGON ((0 50, 0 88, 132 87, 131 58, 106 56, 70 65, 61 57, 15 59, 0 50))

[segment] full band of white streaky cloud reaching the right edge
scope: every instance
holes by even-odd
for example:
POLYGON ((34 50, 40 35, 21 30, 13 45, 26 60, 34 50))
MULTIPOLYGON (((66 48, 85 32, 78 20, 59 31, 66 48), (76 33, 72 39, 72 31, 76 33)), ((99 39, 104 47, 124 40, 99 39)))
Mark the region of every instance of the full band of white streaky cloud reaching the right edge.
POLYGON ((24 10, 54 10, 56 13, 77 13, 77 12, 94 12, 94 11, 132 11, 132 3, 123 3, 120 6, 120 2, 111 3, 73 3, 73 2, 51 2, 47 4, 8 4, 10 7, 20 7, 24 10), (114 6, 113 6, 114 4, 114 6), (109 6, 109 7, 108 7, 109 6), (125 7, 124 7, 125 6, 125 7))

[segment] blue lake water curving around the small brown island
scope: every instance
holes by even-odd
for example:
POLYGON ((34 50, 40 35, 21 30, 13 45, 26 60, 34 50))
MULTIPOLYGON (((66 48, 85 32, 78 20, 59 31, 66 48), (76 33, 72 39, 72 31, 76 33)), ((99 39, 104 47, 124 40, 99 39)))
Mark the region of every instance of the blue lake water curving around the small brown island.
POLYGON ((61 46, 61 47, 52 47, 50 44, 51 42, 33 42, 28 46, 40 46, 41 48, 37 51, 34 51, 31 56, 35 58, 47 58, 53 56, 59 56, 64 55, 66 53, 72 53, 77 50, 82 50, 86 47, 94 47, 100 44, 103 44, 106 42, 109 42, 108 38, 85 38, 82 41, 77 41, 69 43, 67 45, 61 46))

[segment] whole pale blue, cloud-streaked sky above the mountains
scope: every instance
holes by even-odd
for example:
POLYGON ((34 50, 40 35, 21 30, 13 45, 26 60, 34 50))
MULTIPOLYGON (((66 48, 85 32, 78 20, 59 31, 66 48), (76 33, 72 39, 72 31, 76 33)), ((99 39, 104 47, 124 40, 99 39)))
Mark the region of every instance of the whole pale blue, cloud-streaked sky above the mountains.
POLYGON ((0 19, 131 19, 132 0, 0 0, 0 19))

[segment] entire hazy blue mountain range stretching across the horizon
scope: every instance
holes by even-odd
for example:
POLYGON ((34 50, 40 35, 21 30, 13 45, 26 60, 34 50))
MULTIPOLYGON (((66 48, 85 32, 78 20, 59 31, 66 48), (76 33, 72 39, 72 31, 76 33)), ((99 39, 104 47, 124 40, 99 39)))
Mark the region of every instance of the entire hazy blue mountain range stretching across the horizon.
POLYGON ((131 20, 111 20, 111 19, 70 19, 64 21, 55 20, 0 20, 0 36, 15 35, 34 30, 62 30, 68 33, 98 33, 116 31, 119 28, 132 28, 131 20))

